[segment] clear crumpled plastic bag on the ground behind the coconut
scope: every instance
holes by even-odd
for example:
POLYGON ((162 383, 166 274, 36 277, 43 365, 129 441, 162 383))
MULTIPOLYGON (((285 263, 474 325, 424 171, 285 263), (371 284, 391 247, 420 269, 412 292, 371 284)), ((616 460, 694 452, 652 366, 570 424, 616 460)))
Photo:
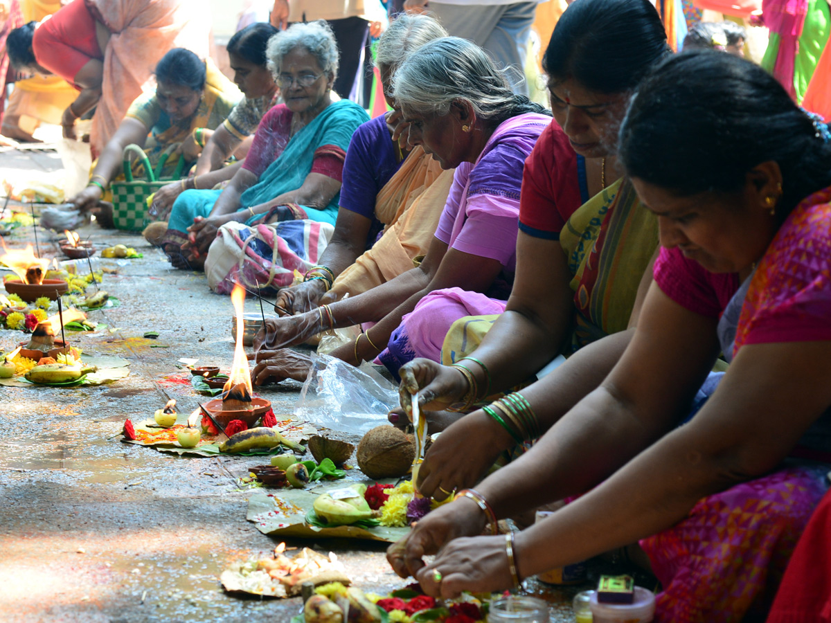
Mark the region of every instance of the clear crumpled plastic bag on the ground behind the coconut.
POLYGON ((364 362, 360 368, 328 355, 312 355, 312 370, 300 391, 294 415, 316 426, 364 434, 387 424, 398 406, 398 388, 364 362))

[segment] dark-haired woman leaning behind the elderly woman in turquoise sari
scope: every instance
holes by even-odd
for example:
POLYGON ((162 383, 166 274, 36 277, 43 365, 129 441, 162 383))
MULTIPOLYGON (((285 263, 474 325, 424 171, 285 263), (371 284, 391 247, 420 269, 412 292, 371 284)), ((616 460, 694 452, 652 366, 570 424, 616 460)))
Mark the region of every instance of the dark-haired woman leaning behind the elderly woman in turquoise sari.
POLYGON ((212 189, 234 177, 240 163, 224 166, 225 161, 234 154, 245 157, 251 146, 248 136, 253 135, 263 115, 277 104, 279 92, 265 56, 268 39, 277 32, 271 24, 261 22, 244 27, 229 39, 225 49, 234 70, 234 83, 244 97, 216 130, 194 130, 194 145, 190 147, 202 152, 194 175, 184 184, 177 180, 156 192, 150 204, 150 216, 164 220, 184 190, 212 189))

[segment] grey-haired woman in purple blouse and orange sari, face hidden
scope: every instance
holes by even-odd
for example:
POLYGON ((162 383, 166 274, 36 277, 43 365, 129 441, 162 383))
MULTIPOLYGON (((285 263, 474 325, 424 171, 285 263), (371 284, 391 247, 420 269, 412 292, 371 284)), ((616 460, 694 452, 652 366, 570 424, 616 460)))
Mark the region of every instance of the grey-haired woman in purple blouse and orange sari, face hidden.
POLYGON ((427 253, 453 171, 442 174, 440 164, 420 145, 412 150, 406 145, 406 123, 391 96, 391 83, 412 51, 446 36, 432 17, 406 13, 381 35, 376 65, 386 102, 394 110, 367 121, 352 137, 335 233, 319 259, 321 266, 307 272, 302 283, 278 293, 277 304, 288 314, 366 292, 406 272, 413 258, 427 253), (401 140, 393 140, 393 134, 402 135, 401 140), (427 189, 430 198, 425 202, 420 198, 427 189))

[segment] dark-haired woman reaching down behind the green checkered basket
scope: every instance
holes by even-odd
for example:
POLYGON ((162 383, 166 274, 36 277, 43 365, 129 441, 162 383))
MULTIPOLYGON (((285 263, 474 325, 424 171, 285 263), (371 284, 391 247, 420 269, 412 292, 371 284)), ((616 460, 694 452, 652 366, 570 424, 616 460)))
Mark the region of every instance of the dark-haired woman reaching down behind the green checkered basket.
MULTIPOLYGON (((162 175, 179 166, 180 147, 194 128, 215 128, 239 100, 239 91, 210 60, 182 47, 170 50, 156 66, 156 91, 136 99, 116 134, 92 169, 89 184, 69 201, 78 208, 95 207, 107 184, 120 173, 124 148, 139 145, 156 169, 164 159, 162 175)), ((134 169, 139 169, 136 164, 134 169)), ((138 174, 138 171, 136 171, 138 174)))

